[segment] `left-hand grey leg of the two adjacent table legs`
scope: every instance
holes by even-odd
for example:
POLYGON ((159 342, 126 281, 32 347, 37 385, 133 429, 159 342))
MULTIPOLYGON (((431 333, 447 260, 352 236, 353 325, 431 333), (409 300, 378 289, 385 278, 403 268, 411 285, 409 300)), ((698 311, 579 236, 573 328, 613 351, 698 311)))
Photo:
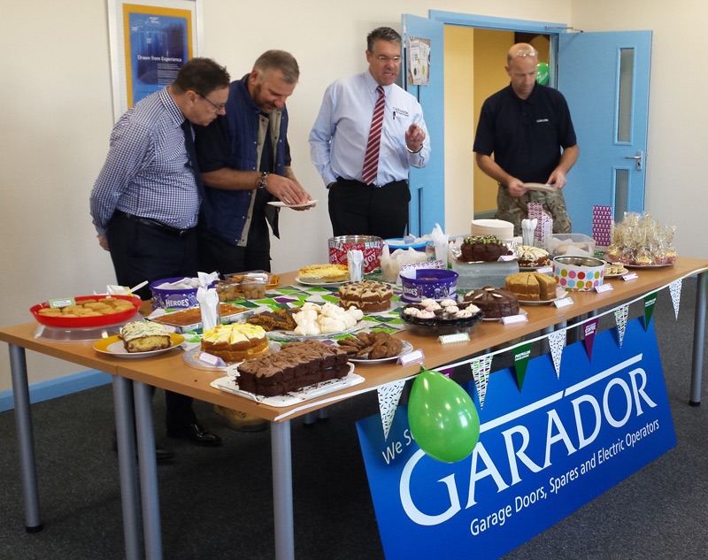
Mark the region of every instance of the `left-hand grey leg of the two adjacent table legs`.
POLYGON ((142 560, 142 526, 138 501, 138 473, 135 468, 135 409, 133 382, 113 376, 113 408, 116 414, 120 501, 123 506, 123 538, 127 560, 142 560))

